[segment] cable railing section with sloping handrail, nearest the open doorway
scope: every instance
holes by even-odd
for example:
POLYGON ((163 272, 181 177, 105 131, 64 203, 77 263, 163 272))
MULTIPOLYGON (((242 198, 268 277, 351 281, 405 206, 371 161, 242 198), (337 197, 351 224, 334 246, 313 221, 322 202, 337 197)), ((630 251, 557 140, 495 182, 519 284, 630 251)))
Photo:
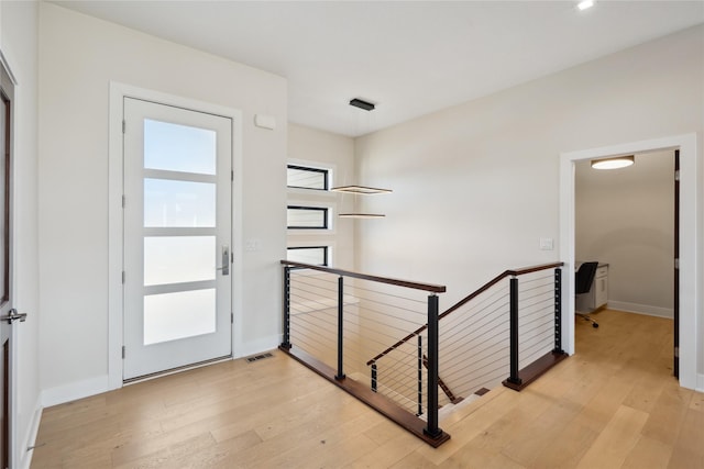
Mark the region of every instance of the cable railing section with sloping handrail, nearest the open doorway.
MULTIPOLYGON (((451 389, 459 400, 499 382, 520 391, 566 357, 561 343, 562 265, 506 270, 439 315, 441 389, 451 389)), ((385 384, 380 369, 410 367, 406 350, 427 330, 418 327, 367 361, 378 389, 385 384)), ((386 375, 393 382, 394 373, 386 375)), ((453 402, 449 398, 442 403, 453 402)))

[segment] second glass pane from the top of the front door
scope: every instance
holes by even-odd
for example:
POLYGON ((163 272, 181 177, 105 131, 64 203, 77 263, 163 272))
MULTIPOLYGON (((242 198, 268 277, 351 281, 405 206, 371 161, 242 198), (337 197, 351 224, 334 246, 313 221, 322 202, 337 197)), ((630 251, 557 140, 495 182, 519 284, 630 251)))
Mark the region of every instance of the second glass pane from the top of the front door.
POLYGON ((144 226, 215 225, 215 183, 144 178, 144 226))

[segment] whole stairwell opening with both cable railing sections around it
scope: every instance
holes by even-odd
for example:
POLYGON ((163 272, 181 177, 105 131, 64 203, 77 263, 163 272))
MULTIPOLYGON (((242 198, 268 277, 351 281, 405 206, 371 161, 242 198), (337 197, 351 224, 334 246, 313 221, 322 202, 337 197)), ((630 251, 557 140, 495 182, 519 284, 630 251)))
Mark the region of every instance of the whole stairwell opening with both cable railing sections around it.
POLYGON ((279 348, 433 447, 454 406, 566 357, 561 263, 506 270, 442 313, 444 286, 282 265, 279 348))

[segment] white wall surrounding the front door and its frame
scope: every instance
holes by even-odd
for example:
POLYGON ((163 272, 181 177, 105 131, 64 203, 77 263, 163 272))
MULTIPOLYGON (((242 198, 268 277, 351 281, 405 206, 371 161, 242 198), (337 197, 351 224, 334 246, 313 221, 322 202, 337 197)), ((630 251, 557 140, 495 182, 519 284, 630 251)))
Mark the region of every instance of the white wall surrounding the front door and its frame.
POLYGON ((235 354, 275 347, 286 244, 286 80, 54 4, 40 5, 40 26, 44 392, 61 401, 107 386, 110 81, 242 111, 235 354), (276 130, 255 127, 257 113, 274 116, 276 130), (245 253, 246 239, 260 249, 245 253))

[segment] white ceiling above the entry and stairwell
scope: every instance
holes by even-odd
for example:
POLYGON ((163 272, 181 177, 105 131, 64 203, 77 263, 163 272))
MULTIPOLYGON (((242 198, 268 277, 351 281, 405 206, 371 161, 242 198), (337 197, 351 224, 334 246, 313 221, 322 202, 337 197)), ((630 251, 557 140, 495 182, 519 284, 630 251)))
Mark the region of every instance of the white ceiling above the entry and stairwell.
POLYGON ((350 136, 704 23, 704 1, 54 3, 283 76, 290 122, 350 136))

